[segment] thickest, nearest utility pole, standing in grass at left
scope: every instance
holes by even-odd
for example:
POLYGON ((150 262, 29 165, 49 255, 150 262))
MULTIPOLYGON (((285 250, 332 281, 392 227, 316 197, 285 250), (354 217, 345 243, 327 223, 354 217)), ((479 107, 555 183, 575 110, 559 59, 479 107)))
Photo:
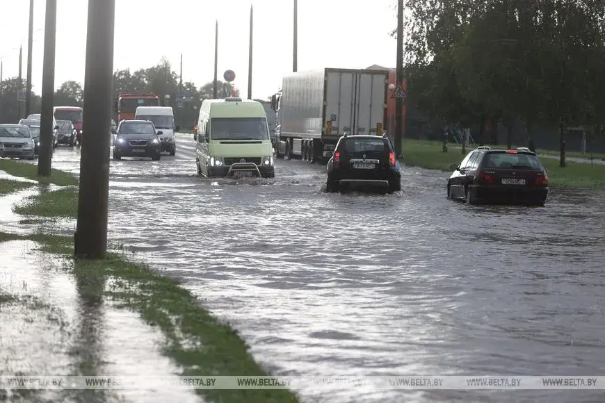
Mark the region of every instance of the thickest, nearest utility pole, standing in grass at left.
POLYGON ((79 258, 101 259, 107 252, 109 141, 113 82, 115 0, 88 1, 84 113, 80 157, 78 224, 74 236, 79 258))

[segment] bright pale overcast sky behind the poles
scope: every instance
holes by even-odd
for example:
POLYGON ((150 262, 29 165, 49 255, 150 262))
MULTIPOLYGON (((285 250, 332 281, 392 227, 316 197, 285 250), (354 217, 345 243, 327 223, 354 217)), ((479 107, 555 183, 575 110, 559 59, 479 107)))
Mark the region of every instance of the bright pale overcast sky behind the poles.
MULTIPOLYGON (((88 1, 57 0, 55 86, 83 83, 88 1)), ((183 79, 197 86, 213 79, 214 22, 218 19, 218 75, 226 69, 242 95, 248 89, 250 3, 254 6, 252 96, 266 99, 292 69, 293 0, 115 0, 113 69, 134 71, 166 56, 183 79), (230 6, 230 7, 229 7, 230 6)), ((298 1, 298 71, 321 67, 394 67, 394 0, 298 1)), ((34 0, 33 90, 40 93, 44 46, 45 0, 34 0)), ((17 76, 23 45, 26 77, 28 0, 0 0, 0 57, 4 77, 17 76)))

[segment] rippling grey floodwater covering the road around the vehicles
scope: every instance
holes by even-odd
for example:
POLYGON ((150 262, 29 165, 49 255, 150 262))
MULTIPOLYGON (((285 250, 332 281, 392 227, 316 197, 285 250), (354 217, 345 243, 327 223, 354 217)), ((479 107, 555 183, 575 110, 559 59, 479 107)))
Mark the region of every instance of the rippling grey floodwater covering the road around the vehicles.
MULTIPOLYGON (((603 375, 602 195, 545 208, 446 200, 405 168, 396 195, 322 192, 325 167, 201 179, 177 156, 111 161, 110 237, 185 280, 274 375, 603 375)), ((79 170, 77 149, 53 167, 79 170)), ((305 390, 319 402, 604 401, 605 390, 305 390)))

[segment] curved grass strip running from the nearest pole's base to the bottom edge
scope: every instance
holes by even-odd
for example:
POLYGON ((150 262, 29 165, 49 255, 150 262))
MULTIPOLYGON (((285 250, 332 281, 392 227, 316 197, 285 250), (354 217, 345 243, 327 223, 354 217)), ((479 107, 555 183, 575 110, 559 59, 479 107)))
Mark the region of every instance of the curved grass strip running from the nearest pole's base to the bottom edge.
MULTIPOLYGON (((150 270, 147 265, 130 263, 119 254, 108 254, 105 259, 96 261, 74 258, 70 237, 0 232, 0 242, 7 240, 33 240, 40 242, 46 252, 64 255, 66 270, 74 274, 84 293, 112 299, 118 306, 138 312, 147 324, 160 329, 166 336, 163 354, 181 366, 181 375, 267 375, 228 324, 219 322, 202 308, 197 298, 177 281, 150 270)), ((296 395, 286 389, 196 389, 196 393, 214 402, 298 401, 296 395)))

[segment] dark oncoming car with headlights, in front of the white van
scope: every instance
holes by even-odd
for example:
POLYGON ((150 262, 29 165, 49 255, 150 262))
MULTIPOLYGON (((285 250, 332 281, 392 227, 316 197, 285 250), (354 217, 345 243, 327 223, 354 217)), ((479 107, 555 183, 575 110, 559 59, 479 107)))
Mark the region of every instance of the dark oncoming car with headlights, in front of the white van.
POLYGON ((122 120, 118 135, 113 142, 113 159, 122 157, 151 157, 160 161, 161 142, 152 122, 147 120, 122 120))

